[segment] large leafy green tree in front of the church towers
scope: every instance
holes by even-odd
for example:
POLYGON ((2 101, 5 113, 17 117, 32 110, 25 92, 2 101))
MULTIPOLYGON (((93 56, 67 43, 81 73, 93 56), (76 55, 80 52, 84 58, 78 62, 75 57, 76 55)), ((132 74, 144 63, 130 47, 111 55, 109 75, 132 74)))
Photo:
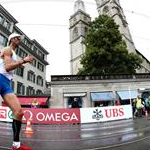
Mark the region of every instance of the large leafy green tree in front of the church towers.
POLYGON ((100 15, 89 25, 85 38, 83 68, 78 75, 132 74, 141 67, 142 58, 129 53, 119 26, 107 15, 100 15))

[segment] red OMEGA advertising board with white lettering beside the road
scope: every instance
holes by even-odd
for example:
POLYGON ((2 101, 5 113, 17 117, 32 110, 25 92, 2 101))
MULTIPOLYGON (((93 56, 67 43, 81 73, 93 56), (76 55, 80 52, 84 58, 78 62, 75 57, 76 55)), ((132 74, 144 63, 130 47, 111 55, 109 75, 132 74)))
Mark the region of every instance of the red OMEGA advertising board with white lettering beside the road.
POLYGON ((37 124, 80 123, 80 109, 23 109, 23 123, 30 120, 37 124))

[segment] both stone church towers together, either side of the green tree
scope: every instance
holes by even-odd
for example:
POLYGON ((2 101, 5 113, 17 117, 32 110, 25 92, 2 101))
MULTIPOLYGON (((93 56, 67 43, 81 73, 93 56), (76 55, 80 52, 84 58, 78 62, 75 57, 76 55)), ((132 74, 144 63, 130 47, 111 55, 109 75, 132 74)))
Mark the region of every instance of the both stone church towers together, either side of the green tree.
MULTIPOLYGON (((137 70, 137 73, 150 72, 150 62, 140 54, 132 40, 128 23, 124 15, 123 9, 119 0, 95 0, 99 15, 107 14, 111 16, 119 25, 120 33, 126 41, 129 52, 134 52, 143 58, 142 68, 137 70)), ((77 0, 74 4, 74 14, 70 17, 70 67, 71 74, 75 75, 78 69, 81 68, 80 59, 85 53, 83 41, 88 31, 90 15, 85 10, 83 0, 77 0)))

